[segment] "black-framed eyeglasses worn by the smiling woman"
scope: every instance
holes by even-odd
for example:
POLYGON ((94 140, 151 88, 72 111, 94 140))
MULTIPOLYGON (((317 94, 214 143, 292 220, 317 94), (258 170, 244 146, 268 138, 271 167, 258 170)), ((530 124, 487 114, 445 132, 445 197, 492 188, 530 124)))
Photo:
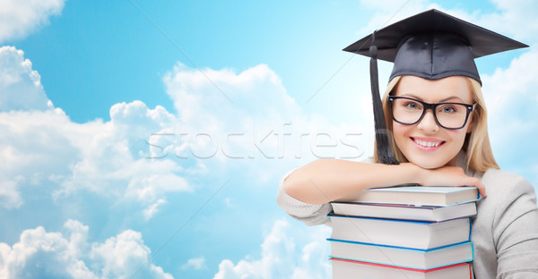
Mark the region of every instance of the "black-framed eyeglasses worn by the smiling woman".
POLYGON ((389 96, 391 114, 397 123, 413 125, 421 121, 426 111, 431 109, 435 122, 448 130, 462 129, 474 110, 473 105, 461 103, 430 104, 411 97, 389 96))

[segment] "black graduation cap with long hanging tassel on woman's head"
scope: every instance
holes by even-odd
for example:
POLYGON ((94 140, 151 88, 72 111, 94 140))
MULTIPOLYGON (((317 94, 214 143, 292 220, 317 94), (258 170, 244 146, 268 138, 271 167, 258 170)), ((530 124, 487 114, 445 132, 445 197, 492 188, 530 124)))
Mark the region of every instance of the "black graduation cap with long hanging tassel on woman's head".
POLYGON ((377 80, 377 58, 395 63, 390 80, 401 75, 428 80, 458 75, 482 82, 474 58, 521 47, 528 46, 447 13, 430 10, 376 30, 344 48, 344 51, 371 57, 370 82, 377 155, 381 163, 398 164, 386 134, 377 80))

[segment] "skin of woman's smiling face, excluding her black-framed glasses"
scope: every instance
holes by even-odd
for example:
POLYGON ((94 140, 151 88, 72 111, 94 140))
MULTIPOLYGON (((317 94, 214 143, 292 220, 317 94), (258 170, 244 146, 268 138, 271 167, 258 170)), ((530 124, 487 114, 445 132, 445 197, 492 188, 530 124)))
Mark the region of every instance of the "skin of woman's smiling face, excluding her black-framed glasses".
MULTIPOLYGON (((466 78, 448 77, 425 80, 403 76, 395 96, 412 97, 426 103, 454 102, 473 104, 473 96, 466 78)), ((419 123, 405 125, 393 120, 393 132, 398 148, 409 162, 423 168, 456 165, 456 155, 464 145, 465 134, 473 128, 473 113, 464 128, 447 130, 436 123, 433 112, 427 110, 419 123)))

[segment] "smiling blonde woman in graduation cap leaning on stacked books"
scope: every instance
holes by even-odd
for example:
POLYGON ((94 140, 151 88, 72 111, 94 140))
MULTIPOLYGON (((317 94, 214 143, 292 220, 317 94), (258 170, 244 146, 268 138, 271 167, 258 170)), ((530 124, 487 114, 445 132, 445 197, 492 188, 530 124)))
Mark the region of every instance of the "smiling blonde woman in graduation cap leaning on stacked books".
MULTIPOLYGON (((361 190, 404 183, 475 186, 484 197, 473 217, 475 278, 538 278, 534 187, 519 175, 500 171, 495 162, 473 62, 484 53, 516 47, 525 45, 432 10, 344 49, 395 62, 383 98, 386 122, 376 121, 386 124, 386 142, 401 163, 379 164, 391 161, 386 144, 377 146, 374 162, 317 160, 282 178, 277 202, 306 224, 330 225, 329 202, 352 199, 361 190)), ((376 71, 374 67, 374 75, 376 71)))

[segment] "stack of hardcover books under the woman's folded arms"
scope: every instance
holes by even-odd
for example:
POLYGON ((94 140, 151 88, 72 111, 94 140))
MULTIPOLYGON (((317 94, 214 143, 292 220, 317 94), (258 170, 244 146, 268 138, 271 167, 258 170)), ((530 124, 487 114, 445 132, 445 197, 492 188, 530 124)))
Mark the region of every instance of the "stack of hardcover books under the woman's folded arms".
POLYGON ((332 203, 333 278, 472 278, 474 187, 405 186, 332 203))

